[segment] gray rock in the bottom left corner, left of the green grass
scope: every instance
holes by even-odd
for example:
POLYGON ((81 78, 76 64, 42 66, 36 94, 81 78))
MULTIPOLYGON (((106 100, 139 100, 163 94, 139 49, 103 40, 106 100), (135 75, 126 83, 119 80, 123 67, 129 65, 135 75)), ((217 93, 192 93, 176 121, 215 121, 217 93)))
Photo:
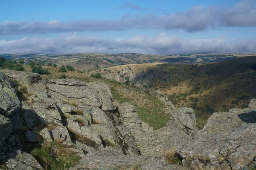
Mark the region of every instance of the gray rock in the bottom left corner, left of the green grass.
POLYGON ((6 162, 8 170, 44 170, 38 161, 29 153, 17 151, 15 158, 10 158, 6 162))

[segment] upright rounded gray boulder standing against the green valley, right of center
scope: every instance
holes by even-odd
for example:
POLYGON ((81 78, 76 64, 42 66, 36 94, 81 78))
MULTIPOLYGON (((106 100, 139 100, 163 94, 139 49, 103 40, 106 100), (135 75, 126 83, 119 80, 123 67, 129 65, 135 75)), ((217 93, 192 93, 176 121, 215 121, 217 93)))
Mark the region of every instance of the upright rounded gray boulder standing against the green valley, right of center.
POLYGON ((172 115, 185 127, 194 130, 196 125, 195 112, 193 109, 181 107, 173 111, 172 115))

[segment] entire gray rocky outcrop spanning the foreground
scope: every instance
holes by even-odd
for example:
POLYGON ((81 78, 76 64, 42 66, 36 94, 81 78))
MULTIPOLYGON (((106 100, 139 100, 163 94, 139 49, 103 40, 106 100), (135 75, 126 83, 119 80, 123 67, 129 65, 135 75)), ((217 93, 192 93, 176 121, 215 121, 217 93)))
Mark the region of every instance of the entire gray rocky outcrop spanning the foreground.
POLYGON ((256 168, 255 99, 246 109, 213 113, 203 130, 195 124, 194 111, 183 107, 153 130, 134 105, 114 101, 106 84, 0 71, 0 162, 8 170, 47 169, 27 147, 54 142, 57 162, 57 144, 79 156, 70 170, 256 168), (175 165, 166 162, 168 150, 175 150, 175 165))

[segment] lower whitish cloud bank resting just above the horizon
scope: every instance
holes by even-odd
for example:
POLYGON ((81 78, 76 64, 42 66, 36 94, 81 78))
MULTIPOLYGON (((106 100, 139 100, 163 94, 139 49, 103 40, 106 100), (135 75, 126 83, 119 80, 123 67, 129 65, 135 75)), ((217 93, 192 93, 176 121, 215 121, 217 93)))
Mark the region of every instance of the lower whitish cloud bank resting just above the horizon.
POLYGON ((225 36, 185 40, 181 37, 160 34, 156 37, 135 36, 126 40, 110 40, 69 33, 55 39, 24 37, 19 40, 0 40, 0 54, 67 54, 76 52, 137 52, 160 55, 200 52, 255 53, 255 46, 256 40, 236 40, 225 36))

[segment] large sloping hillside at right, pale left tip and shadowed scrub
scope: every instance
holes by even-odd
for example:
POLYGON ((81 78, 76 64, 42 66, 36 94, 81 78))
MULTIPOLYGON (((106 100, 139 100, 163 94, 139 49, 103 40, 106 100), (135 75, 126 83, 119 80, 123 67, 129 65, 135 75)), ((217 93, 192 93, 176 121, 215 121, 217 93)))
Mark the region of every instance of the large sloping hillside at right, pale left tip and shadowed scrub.
POLYGON ((204 65, 152 63, 101 70, 105 78, 160 89, 175 107, 192 107, 205 120, 217 111, 244 108, 256 97, 256 57, 234 58, 204 65), (254 68, 254 69, 253 69, 254 68))

